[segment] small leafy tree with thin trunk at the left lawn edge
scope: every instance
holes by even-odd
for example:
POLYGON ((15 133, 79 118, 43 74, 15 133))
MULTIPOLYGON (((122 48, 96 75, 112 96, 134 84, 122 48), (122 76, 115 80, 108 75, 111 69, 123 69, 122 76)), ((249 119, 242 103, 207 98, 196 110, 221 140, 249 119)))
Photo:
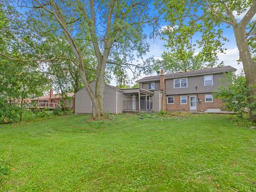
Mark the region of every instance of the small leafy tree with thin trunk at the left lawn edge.
POLYGON ((37 63, 1 60, 0 93, 8 100, 20 101, 20 121, 22 121, 25 98, 42 95, 49 89, 49 81, 45 74, 38 71, 37 63))

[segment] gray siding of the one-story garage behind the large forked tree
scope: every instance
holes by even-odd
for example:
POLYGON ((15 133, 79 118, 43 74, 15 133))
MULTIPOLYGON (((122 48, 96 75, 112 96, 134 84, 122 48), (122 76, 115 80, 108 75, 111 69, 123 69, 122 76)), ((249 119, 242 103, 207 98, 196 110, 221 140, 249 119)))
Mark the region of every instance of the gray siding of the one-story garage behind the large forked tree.
MULTIPOLYGON (((93 92, 95 92, 95 82, 90 83, 90 86, 93 92)), ((121 91, 118 91, 118 92, 121 92, 121 91)), ((75 94, 75 97, 76 97, 75 113, 91 114, 92 113, 91 98, 87 90, 84 88, 78 91, 75 94)), ((122 97, 120 95, 119 97, 117 97, 117 99, 119 98, 119 100, 122 101, 122 97)), ((123 105, 121 106, 123 107, 123 105)), ((118 111, 121 111, 121 109, 119 109, 118 106, 117 106, 117 109, 118 111)), ((107 85, 105 85, 105 93, 104 93, 104 111, 105 113, 111 113, 111 114, 116 113, 116 90, 107 85)))

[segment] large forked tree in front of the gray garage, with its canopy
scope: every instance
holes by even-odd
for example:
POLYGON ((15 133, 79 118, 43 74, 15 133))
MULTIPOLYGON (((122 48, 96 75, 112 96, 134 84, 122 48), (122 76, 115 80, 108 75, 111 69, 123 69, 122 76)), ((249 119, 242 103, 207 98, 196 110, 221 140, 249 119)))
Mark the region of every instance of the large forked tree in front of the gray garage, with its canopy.
POLYGON ((143 26, 155 21, 148 15, 149 5, 149 1, 138 0, 30 0, 20 4, 38 10, 33 15, 35 20, 54 26, 56 33, 66 37, 75 55, 73 62, 79 68, 82 82, 93 102, 95 119, 105 116, 103 94, 108 60, 110 65, 127 65, 127 61, 132 61, 135 55, 141 57, 148 50, 143 26), (81 39, 89 43, 87 46, 93 47, 97 59, 95 92, 87 81, 84 55, 77 44, 81 39))

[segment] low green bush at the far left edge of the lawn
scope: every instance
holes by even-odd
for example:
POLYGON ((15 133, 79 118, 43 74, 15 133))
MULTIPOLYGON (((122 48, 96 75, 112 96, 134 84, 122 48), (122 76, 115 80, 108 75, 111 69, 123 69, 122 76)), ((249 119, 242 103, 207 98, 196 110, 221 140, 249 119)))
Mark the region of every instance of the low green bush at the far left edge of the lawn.
POLYGON ((0 98, 0 124, 17 122, 19 119, 20 107, 5 103, 0 98))

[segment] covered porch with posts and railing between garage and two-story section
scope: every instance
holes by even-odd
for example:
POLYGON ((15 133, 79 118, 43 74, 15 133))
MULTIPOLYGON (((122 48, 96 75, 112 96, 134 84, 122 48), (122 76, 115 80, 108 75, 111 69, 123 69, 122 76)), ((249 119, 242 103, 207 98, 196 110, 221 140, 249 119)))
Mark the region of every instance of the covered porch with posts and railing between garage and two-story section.
POLYGON ((145 89, 123 90, 123 111, 152 111, 154 92, 145 89))

